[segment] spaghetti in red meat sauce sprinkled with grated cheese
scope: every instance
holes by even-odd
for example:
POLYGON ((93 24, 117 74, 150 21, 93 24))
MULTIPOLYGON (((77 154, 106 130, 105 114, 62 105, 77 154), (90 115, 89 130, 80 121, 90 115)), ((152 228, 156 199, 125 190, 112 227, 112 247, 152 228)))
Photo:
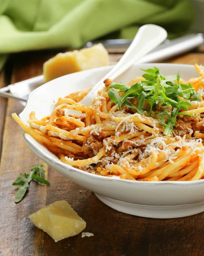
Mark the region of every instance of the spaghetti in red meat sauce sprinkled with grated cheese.
MULTIPOLYGON (((31 112, 29 126, 16 113, 12 117, 63 163, 85 172, 140 181, 199 180, 204 178, 204 72, 196 64, 195 68, 200 77, 182 83, 201 90, 200 101, 191 101, 186 111, 179 110, 182 114, 176 116, 170 134, 165 134, 168 122, 164 123, 173 112, 168 104, 158 103, 149 115, 149 103, 144 102, 141 114, 128 107, 132 102, 138 108, 137 99, 128 98, 119 109, 106 90, 112 84, 109 79, 90 107, 79 103, 88 89, 60 98, 51 115, 41 120, 31 112), (65 109, 82 114, 66 115, 65 109)), ((138 81, 145 79, 136 78, 129 86, 138 81)), ((124 91, 116 91, 123 97, 124 91)))

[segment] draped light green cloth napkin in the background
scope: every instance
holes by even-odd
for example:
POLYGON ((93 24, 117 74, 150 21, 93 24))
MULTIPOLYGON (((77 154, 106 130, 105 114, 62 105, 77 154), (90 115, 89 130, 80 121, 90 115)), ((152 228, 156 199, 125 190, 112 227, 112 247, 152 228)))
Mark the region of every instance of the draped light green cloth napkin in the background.
POLYGON ((0 68, 11 52, 78 48, 107 34, 134 38, 147 23, 173 38, 193 16, 189 0, 0 0, 0 68))

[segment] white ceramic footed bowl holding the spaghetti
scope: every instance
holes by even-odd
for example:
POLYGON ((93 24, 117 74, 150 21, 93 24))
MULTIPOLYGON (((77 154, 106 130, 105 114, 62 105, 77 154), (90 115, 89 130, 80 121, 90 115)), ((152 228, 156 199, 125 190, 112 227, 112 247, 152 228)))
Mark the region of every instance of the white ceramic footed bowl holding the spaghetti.
MULTIPOLYGON (((140 68, 153 66, 158 67, 165 76, 175 75, 178 70, 186 80, 198 76, 192 65, 135 64, 117 81, 128 83, 144 73, 140 68)), ((54 107, 53 100, 94 86, 111 68, 73 73, 43 84, 30 94, 26 108, 20 114, 21 119, 26 122, 31 111, 35 111, 37 118, 49 115, 54 107)), ((178 218, 204 211, 204 180, 144 182, 93 175, 62 163, 29 134, 24 134, 24 138, 45 163, 90 189, 104 204, 118 211, 149 218, 178 218)))

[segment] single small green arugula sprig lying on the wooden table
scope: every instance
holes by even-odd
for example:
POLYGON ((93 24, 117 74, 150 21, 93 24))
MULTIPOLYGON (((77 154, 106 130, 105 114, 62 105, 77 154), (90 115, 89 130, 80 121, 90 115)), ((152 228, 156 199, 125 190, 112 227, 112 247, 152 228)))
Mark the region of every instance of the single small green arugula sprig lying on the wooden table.
POLYGON ((45 171, 42 167, 43 165, 34 166, 29 174, 21 173, 20 176, 17 177, 16 181, 12 184, 13 186, 20 186, 15 195, 15 203, 18 203, 23 199, 26 190, 29 188, 29 183, 32 180, 50 186, 49 181, 45 179, 45 171))

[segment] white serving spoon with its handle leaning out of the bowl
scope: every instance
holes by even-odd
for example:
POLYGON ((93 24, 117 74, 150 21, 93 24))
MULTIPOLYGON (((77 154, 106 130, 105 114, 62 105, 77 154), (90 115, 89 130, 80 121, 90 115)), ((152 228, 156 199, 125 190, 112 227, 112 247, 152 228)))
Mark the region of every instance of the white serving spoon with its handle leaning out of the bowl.
POLYGON ((138 33, 135 35, 132 44, 130 44, 120 61, 118 61, 115 67, 92 88, 80 103, 85 106, 92 105, 93 99, 97 96, 97 92, 104 87, 103 81, 106 78, 114 81, 114 79, 129 69, 129 67, 141 57, 161 44, 166 38, 167 31, 160 26, 153 24, 141 26, 138 33))

